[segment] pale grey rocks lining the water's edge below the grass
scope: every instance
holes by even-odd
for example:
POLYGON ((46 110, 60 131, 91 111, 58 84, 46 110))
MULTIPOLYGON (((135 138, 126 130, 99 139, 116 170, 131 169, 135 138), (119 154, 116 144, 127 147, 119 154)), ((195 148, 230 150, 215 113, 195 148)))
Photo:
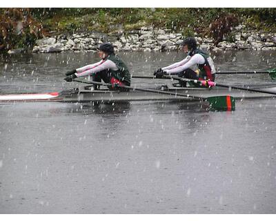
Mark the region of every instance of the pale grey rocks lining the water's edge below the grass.
MULTIPOLYGON (((195 38, 204 50, 276 50, 276 33, 258 33, 245 30, 245 27, 240 25, 233 29, 231 36, 231 42, 224 40, 215 48, 213 39, 197 35, 195 38)), ((99 44, 106 41, 112 42, 117 51, 171 51, 179 50, 182 40, 180 32, 143 27, 140 30, 117 32, 112 35, 90 32, 46 37, 36 41, 32 52, 96 52, 99 44)))

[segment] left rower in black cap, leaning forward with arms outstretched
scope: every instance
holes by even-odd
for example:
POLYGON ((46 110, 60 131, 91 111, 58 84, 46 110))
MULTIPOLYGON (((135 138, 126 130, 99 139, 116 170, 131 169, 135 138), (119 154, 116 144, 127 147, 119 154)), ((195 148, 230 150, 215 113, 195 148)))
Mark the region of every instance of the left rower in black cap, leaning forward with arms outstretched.
MULTIPOLYGON (((98 55, 101 61, 95 64, 89 64, 82 68, 70 70, 66 73, 66 81, 72 81, 77 77, 87 77, 92 75, 92 81, 112 84, 110 89, 119 86, 130 86, 130 73, 128 67, 122 59, 115 55, 114 47, 110 43, 103 43, 98 48, 98 55)), ((98 85, 93 86, 95 90, 99 89, 98 85)), ((119 90, 126 90, 119 87, 119 90)))

